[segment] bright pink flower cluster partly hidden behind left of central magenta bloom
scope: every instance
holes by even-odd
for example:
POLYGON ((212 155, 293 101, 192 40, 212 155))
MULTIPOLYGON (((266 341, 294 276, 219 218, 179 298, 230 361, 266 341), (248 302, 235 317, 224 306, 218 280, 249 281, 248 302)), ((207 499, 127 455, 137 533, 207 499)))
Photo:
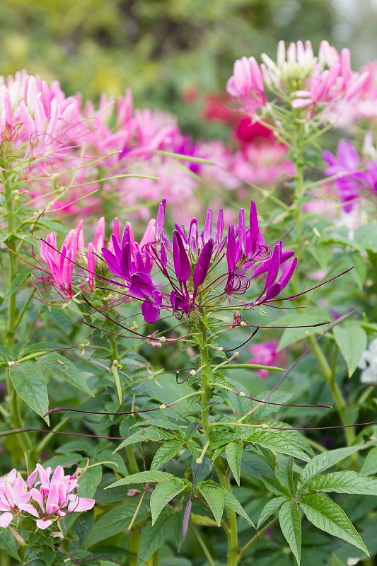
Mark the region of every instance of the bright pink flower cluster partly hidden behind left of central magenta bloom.
MULTIPOLYGON (((154 219, 149 221, 144 236, 141 238, 140 243, 137 243, 131 224, 126 222, 124 233, 127 231, 130 235, 134 262, 136 261, 135 254, 140 253, 142 255, 145 244, 154 241, 155 224, 156 221, 154 219)), ((119 220, 115 218, 112 236, 108 245, 110 253, 117 254, 120 241, 122 241, 120 224, 119 220)), ((37 281, 43 283, 45 290, 54 289, 58 297, 52 300, 61 301, 63 299, 65 301, 74 299, 73 277, 76 267, 76 275, 83 279, 76 292, 81 290, 93 292, 96 282, 101 283, 107 280, 103 277, 106 270, 103 262, 100 261, 100 256, 98 256, 103 246, 105 246, 105 218, 103 216, 98 220, 93 243, 88 243, 87 250, 85 250, 82 220, 79 221, 76 229, 69 231, 60 251, 57 248, 56 234, 54 232, 50 233, 46 240, 41 242, 40 256, 43 261, 37 267, 41 274, 40 277, 37 277, 37 281)))

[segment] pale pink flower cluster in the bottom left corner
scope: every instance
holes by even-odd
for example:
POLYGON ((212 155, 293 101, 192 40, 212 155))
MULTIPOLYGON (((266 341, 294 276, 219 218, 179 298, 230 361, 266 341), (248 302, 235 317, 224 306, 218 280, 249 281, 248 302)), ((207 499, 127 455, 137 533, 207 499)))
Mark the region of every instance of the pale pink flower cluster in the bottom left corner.
POLYGON ((38 463, 26 481, 16 469, 0 478, 1 527, 10 526, 13 519, 32 516, 37 528, 45 530, 69 513, 92 509, 94 499, 74 493, 78 480, 73 475, 64 475, 62 466, 57 466, 52 477, 51 473, 50 467, 45 469, 38 463))

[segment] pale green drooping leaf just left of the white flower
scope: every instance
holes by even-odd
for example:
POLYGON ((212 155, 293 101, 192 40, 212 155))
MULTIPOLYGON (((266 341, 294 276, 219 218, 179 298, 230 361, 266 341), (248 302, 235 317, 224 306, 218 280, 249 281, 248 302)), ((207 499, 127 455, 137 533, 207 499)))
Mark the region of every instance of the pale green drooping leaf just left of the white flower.
POLYGON ((347 363, 348 376, 351 377, 360 362, 361 354, 368 345, 366 332, 358 323, 352 323, 344 328, 335 326, 333 333, 335 342, 347 363))

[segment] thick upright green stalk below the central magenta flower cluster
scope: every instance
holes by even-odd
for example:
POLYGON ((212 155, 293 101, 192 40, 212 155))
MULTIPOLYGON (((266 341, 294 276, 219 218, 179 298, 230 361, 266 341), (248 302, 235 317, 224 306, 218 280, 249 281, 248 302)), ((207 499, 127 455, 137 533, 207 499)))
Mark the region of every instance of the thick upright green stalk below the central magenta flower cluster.
MULTIPOLYGON (((204 314, 202 313, 202 316, 204 314)), ((200 347, 201 355, 201 366, 202 366, 202 425, 204 429, 204 434, 206 435, 207 441, 209 441, 209 432, 211 431, 211 420, 209 419, 209 400, 210 400, 210 383, 209 376, 211 375, 211 369, 209 364, 208 355, 208 340, 207 340, 207 327, 202 319, 199 319, 199 331, 202 336, 202 346, 200 347)), ((226 475, 226 470, 224 470, 220 458, 216 458, 214 462, 217 475, 219 475, 219 480, 221 486, 231 493, 231 482, 226 475)), ((237 520, 236 512, 233 509, 227 509, 229 529, 228 537, 228 562, 227 566, 236 566, 238 562, 238 536, 237 536, 237 520)))

